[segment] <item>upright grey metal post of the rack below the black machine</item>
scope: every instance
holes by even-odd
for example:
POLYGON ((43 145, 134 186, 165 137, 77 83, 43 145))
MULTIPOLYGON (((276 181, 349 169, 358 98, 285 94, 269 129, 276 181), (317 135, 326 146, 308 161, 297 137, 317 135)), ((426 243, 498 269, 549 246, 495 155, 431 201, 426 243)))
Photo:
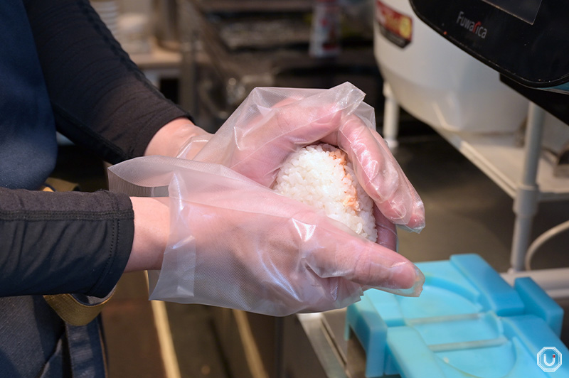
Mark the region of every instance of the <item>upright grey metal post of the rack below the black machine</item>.
POLYGON ((523 171, 521 183, 519 183, 514 199, 516 220, 514 222, 510 271, 522 271, 524 269, 523 262, 531 239, 533 217, 538 209, 537 173, 545 115, 546 112, 541 107, 533 104, 533 102, 529 104, 523 171))

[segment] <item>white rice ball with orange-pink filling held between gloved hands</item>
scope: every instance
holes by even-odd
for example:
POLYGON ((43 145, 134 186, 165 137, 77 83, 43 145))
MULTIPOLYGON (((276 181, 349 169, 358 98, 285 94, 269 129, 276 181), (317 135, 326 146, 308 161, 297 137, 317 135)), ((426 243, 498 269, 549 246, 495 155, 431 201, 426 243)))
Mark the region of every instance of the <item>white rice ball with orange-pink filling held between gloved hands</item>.
POLYGON ((280 168, 273 190, 324 211, 361 237, 377 240, 373 200, 339 148, 319 144, 294 153, 280 168))

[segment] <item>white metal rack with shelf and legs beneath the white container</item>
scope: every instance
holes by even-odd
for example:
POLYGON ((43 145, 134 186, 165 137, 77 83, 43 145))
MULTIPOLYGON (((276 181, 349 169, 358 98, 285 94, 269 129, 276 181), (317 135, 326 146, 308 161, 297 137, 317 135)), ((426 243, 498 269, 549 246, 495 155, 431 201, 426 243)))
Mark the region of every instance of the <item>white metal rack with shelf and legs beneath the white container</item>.
MULTIPOLYGON (((393 146, 398 131, 399 105, 388 83, 385 83, 383 94, 384 137, 393 146)), ((569 296, 569 268, 524 270, 526 252, 531 244, 533 217, 539 203, 569 200, 569 178, 555 177, 552 163, 541 155, 545 114, 544 109, 530 102, 523 147, 516 146, 511 134, 469 134, 433 129, 514 199, 516 220, 511 268, 503 274, 504 279, 512 283, 517 277, 531 276, 551 296, 562 298, 569 296)))

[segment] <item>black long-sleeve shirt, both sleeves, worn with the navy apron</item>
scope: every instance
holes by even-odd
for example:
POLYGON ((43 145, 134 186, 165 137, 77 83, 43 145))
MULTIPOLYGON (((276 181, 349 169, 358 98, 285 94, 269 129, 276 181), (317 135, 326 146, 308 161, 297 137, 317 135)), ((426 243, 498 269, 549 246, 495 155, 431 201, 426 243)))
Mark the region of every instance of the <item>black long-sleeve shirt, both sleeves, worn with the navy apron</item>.
MULTIPOLYGON (((149 84, 88 1, 25 6, 55 125, 75 144, 117 163, 141 156, 161 126, 187 116, 149 84)), ((13 148, 36 153, 26 140, 13 148)), ((110 291, 134 233, 124 195, 0 190, 0 296, 110 291)))

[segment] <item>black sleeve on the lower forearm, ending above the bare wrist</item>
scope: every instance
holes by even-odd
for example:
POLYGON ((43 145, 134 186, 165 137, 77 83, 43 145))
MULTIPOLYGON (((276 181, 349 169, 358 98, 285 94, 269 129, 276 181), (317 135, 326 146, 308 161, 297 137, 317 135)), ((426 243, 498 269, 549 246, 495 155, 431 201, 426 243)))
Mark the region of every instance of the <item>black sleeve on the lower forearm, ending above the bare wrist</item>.
POLYGON ((104 297, 127 264, 134 236, 127 195, 0 188, 0 296, 104 297))

